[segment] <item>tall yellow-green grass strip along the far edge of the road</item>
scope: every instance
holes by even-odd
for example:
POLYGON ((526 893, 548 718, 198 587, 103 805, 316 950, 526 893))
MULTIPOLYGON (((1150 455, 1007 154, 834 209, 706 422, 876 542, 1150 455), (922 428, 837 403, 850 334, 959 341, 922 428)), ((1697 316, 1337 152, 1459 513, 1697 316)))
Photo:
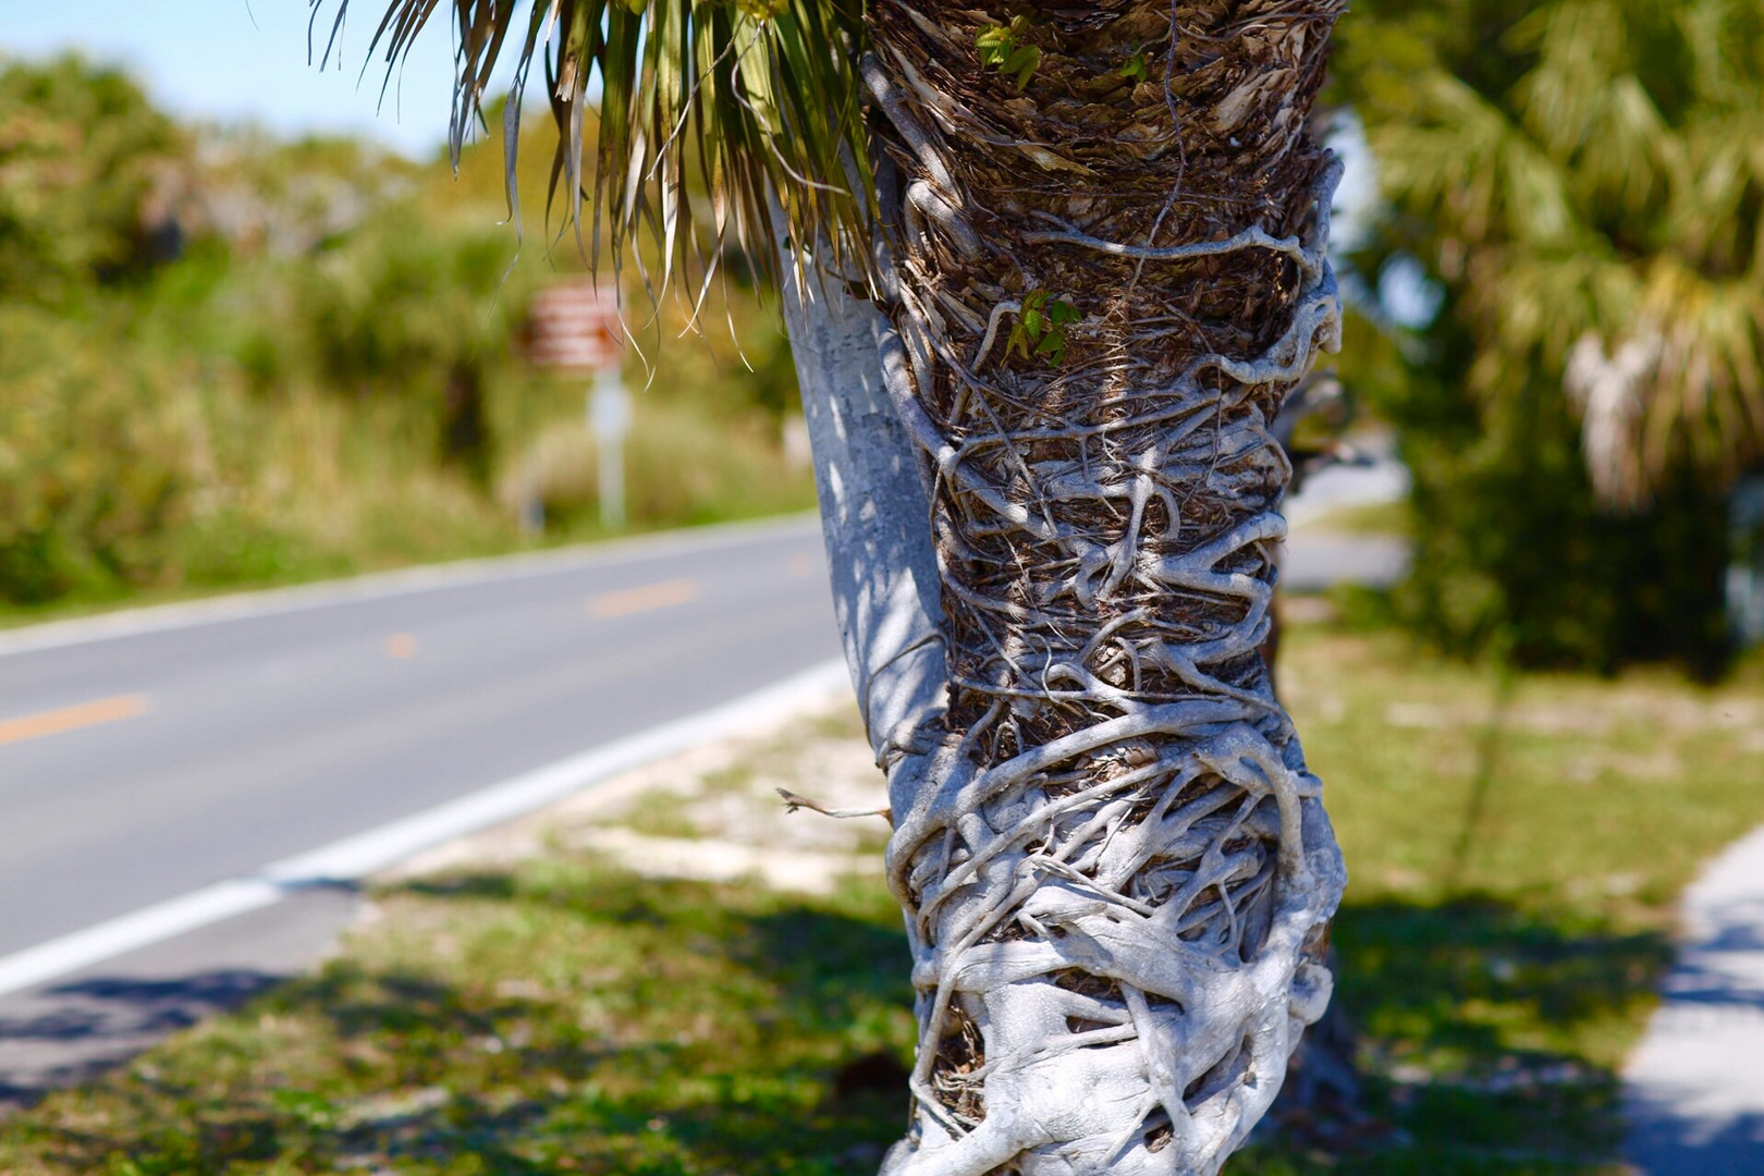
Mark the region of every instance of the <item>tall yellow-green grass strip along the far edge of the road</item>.
MULTIPOLYGON (((309 404, 307 434, 279 435, 261 465, 270 487, 247 495, 243 510, 215 511, 164 536, 175 557, 159 582, 93 577, 42 603, 5 599, 0 629, 416 564, 506 555, 811 510, 811 471, 785 469, 769 418, 757 413, 639 398, 628 439, 630 524, 600 525, 591 490, 549 502, 543 534, 524 534, 513 508, 475 490, 455 471, 429 469, 393 439, 323 402, 309 404), (351 432, 355 430, 355 432, 351 432), (319 435, 309 435, 319 434, 319 435), (349 444, 344 444, 348 441, 349 444), (351 460, 346 450, 367 450, 351 460), (669 465, 669 455, 681 467, 669 465), (280 471, 286 465, 286 471, 280 471), (286 476, 277 476, 284 473, 286 476), (279 485, 280 483, 280 485, 279 485), (286 485, 298 485, 288 495, 286 485)), ((284 413, 284 416, 298 416, 284 413)), ((288 427, 288 421, 273 421, 288 427)), ((563 434, 586 443, 580 421, 563 434)), ((593 487, 591 446, 557 458, 559 481, 593 487), (586 450, 586 453, 584 453, 586 450)), ((4 545, 0 545, 4 555, 4 545)))

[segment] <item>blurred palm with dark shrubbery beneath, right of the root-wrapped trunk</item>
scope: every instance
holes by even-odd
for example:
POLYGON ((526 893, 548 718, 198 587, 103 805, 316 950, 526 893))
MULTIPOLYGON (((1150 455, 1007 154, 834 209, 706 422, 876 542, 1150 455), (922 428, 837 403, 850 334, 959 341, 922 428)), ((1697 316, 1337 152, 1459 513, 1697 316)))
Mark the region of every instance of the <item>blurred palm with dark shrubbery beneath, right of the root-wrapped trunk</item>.
POLYGON ((1764 439, 1764 12, 1374 0, 1342 92, 1445 294, 1369 381, 1406 434, 1446 644, 1611 666, 1725 651, 1722 494, 1764 439))

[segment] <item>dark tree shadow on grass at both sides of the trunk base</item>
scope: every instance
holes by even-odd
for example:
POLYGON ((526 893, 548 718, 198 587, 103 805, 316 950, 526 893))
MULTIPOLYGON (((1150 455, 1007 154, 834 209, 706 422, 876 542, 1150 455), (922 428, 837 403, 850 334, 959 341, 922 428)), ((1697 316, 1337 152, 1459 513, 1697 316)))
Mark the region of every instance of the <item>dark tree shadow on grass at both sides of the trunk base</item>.
MULTIPOLYGON (((912 991, 886 901, 609 871, 457 875, 400 896, 467 957, 501 943, 501 970, 358 950, 113 1077, 86 1095, 101 1114, 23 1116, 0 1135, 25 1132, 60 1171, 129 1176, 820 1176, 873 1172, 905 1123, 912 991), (580 982, 538 984, 559 943, 580 982), (591 975, 603 956, 617 963, 591 975), (254 1037, 265 1024, 310 1035, 310 1056, 254 1037)), ((1381 899, 1349 904, 1335 945, 1369 1098, 1395 1130, 1337 1157, 1263 1143, 1233 1176, 1589 1172, 1614 1153, 1616 1081, 1584 1042, 1651 1000, 1660 936, 1491 899, 1381 899)))

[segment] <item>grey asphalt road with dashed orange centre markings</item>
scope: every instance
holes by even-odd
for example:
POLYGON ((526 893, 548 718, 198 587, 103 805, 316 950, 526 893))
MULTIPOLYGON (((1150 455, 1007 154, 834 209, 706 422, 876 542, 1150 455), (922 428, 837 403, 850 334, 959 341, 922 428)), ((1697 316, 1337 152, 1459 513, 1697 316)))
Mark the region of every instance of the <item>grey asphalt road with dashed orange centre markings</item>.
MULTIPOLYGON (((1295 534, 1289 582, 1387 578, 1385 547, 1295 534)), ((309 966, 360 875, 86 950, 108 920, 534 770, 579 786, 584 756, 838 652, 811 518, 0 633, 0 1113, 309 966)))

